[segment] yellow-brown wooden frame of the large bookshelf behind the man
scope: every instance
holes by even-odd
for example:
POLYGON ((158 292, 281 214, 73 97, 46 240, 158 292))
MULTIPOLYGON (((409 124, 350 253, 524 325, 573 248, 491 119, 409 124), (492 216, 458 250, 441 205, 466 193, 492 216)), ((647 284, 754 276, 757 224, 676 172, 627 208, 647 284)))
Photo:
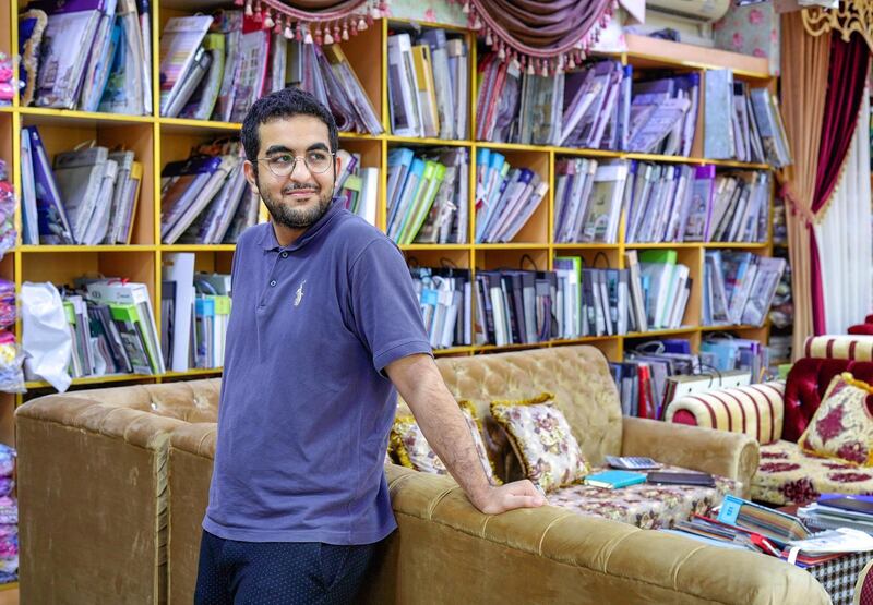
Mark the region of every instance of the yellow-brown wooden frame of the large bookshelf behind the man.
MULTIPOLYGON (((20 8, 26 2, 19 0, 9 3, 7 9, 0 9, 0 50, 10 52, 17 48, 17 19, 20 8)), ((198 0, 160 0, 154 2, 153 10, 153 82, 158 82, 158 41, 159 33, 166 21, 171 16, 193 14, 198 11, 214 8, 232 7, 232 1, 202 2, 198 0)), ((376 113, 382 117, 385 130, 388 130, 387 106, 387 53, 386 37, 390 29, 410 28, 408 21, 381 21, 372 27, 352 36, 348 41, 343 41, 346 56, 349 58, 361 83, 372 100, 376 113)), ((431 26, 434 24, 426 24, 431 26)), ((455 26, 447 26, 453 34, 466 36, 470 49, 470 73, 476 73, 476 44, 473 33, 455 26)), ((672 70, 678 73, 692 71, 705 73, 710 69, 731 69, 737 80, 750 82, 755 86, 774 86, 775 81, 768 74, 766 59, 746 57, 714 49, 702 49, 689 45, 654 40, 638 36, 626 36, 629 50, 621 55, 612 56, 623 64, 633 64, 636 70, 672 70)), ((475 83, 474 83, 475 84, 475 83)), ((476 90, 475 86, 469 99, 470 133, 475 131, 476 90)), ((703 93, 703 90, 702 90, 703 93)), ((153 86, 155 108, 158 107, 157 86, 153 86)), ((704 101, 702 100, 701 107, 704 101)), ((0 262, 0 275, 14 279, 16 288, 24 281, 55 281, 69 282, 72 278, 83 273, 99 271, 104 275, 129 277, 131 280, 143 281, 148 286, 153 306, 157 314, 160 305, 154 304, 160 300, 160 267, 166 254, 174 252, 193 252, 196 254, 196 268, 199 270, 229 271, 234 254, 234 245, 164 245, 160 243, 160 198, 159 182, 160 169, 171 160, 183 159, 188 156, 192 145, 211 137, 227 136, 239 131, 240 124, 226 122, 211 122, 196 120, 182 120, 160 116, 117 116, 82 111, 67 111, 21 107, 19 99, 14 99, 12 107, 0 108, 0 157, 10 166, 16 191, 20 192, 20 131, 24 125, 37 124, 40 128, 45 145, 49 155, 68 149, 73 145, 89 138, 97 140, 103 145, 125 145, 136 153, 136 159, 144 165, 144 179, 140 204, 135 218, 133 243, 129 246, 36 246, 19 245, 0 262)), ((402 250, 408 258, 415 258, 421 266, 439 266, 449 261, 459 268, 492 269, 505 266, 519 266, 523 262, 526 268, 536 265, 538 269, 551 269, 554 256, 578 255, 591 264, 596 256, 606 257, 611 267, 623 267, 624 252, 626 250, 647 249, 674 249, 679 262, 689 265, 691 277, 694 280, 692 295, 683 317, 683 327, 675 330, 660 330, 645 334, 631 334, 613 337, 586 337, 574 340, 555 340, 538 344, 524 344, 498 348, 494 346, 482 347, 455 347, 436 351, 440 355, 470 355, 489 353, 498 350, 530 349, 552 347, 571 343, 590 343, 601 349, 612 360, 620 360, 629 346, 649 339, 669 336, 686 337, 692 346, 699 346, 702 336, 709 331, 731 331, 745 337, 766 340, 767 330, 764 327, 752 326, 719 326, 701 327, 702 286, 704 253, 708 249, 741 249, 750 250, 757 254, 769 255, 772 246, 768 237, 767 243, 762 244, 719 244, 719 243, 675 243, 675 244, 637 244, 625 243, 620 240, 614 244, 559 244, 552 241, 552 221, 554 216, 553 183, 554 166, 557 159, 565 156, 585 156, 593 158, 627 158, 657 162, 677 162, 703 165, 714 164, 721 168, 742 168, 768 170, 766 165, 743 164, 728 160, 708 160, 703 157, 703 111, 698 116, 697 135, 690 157, 660 156, 649 154, 633 154, 623 152, 608 152, 601 149, 577 149, 539 145, 518 145, 510 143, 488 143, 474 141, 468 134, 464 141, 442 141, 438 138, 410 138, 385 133, 379 136, 361 134, 340 134, 340 145, 349 150, 360 153, 363 166, 375 166, 380 172, 380 204, 376 213, 376 223, 385 229, 385 185, 386 164, 388 149, 397 146, 459 146, 469 149, 470 158, 475 161, 476 152, 480 147, 498 149, 506 155, 513 166, 527 166, 539 172, 543 180, 552 183, 550 191, 528 223, 519 232, 515 241, 506 244, 449 244, 404 245, 402 250)), ((473 192, 475 192, 475 170, 470 170, 470 197, 469 216, 470 228, 468 242, 473 242, 475 216, 473 192)), ((262 219, 265 219, 262 210, 262 219)), ((16 217, 21 225, 21 217, 16 217)), ((623 231, 623 229, 620 229, 623 231)), ((156 317, 157 325, 159 317, 156 317)), ((16 326, 21 336, 21 326, 16 326)), ((164 380, 178 380, 203 376, 217 376, 220 368, 192 370, 189 372, 167 373, 160 376, 122 375, 105 376, 98 378, 79 378, 73 380, 75 386, 93 387, 101 384, 136 384, 159 383, 164 380)), ((47 391, 45 383, 28 383, 34 395, 47 391)), ((5 396, 8 408, 22 401, 14 396, 5 396)), ((12 423, 11 412, 0 414, 0 440, 11 443, 12 423)))

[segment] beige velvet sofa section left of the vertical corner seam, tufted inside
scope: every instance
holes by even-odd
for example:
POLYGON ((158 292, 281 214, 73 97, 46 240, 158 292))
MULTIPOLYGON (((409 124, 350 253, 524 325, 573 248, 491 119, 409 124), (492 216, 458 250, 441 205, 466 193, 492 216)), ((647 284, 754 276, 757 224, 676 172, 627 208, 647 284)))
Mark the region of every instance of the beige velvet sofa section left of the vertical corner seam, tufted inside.
POLYGON ((17 409, 22 603, 167 602, 170 433, 214 423, 219 387, 79 390, 17 409))

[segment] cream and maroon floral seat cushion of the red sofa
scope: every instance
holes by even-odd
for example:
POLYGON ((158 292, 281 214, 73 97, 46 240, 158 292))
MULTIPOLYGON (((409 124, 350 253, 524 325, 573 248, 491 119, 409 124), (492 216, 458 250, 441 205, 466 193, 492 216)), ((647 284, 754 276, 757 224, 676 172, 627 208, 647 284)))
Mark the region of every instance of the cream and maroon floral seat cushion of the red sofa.
POLYGON ((873 469, 804 453, 790 441, 761 446, 753 499, 805 505, 827 493, 873 494, 873 469))

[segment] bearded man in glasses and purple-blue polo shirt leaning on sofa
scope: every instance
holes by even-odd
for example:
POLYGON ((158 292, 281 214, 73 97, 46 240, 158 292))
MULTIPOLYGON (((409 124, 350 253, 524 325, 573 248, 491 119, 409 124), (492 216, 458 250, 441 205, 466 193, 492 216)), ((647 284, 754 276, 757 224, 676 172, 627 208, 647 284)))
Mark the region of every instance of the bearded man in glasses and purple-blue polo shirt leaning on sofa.
POLYGON ((543 498, 526 481, 488 483, 400 252, 332 204, 330 111, 307 93, 274 93, 249 111, 242 144, 272 221, 234 255, 196 602, 350 603, 396 528, 383 469, 394 387, 479 510, 543 498))

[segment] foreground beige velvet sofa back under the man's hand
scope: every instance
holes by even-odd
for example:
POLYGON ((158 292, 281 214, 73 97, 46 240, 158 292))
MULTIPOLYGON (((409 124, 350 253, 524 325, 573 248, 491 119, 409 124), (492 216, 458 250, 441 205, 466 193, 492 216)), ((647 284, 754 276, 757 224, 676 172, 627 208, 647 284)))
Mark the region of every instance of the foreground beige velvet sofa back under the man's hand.
POLYGON ((772 557, 552 506, 482 515, 451 479, 387 475, 399 531, 363 603, 829 603, 772 557))

